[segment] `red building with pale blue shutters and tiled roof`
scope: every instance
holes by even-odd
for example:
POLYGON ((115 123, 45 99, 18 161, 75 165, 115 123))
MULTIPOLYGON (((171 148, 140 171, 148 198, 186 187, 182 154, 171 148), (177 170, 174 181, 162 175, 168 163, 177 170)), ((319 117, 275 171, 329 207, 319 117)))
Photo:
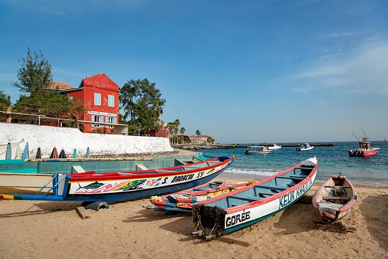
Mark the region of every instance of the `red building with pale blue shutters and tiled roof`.
POLYGON ((85 124, 83 132, 104 131, 113 132, 112 126, 104 126, 98 123, 118 124, 118 92, 119 87, 105 74, 86 77, 81 81, 79 87, 71 87, 62 82, 53 82, 51 87, 58 88, 71 98, 84 101, 88 111, 79 118, 80 121, 96 122, 96 124, 85 124))

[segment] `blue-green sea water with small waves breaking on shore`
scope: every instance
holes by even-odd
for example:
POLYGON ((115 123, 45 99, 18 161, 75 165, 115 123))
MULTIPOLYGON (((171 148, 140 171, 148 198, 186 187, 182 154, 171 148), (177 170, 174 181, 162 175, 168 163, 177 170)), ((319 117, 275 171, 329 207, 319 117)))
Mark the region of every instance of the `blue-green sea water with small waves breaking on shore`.
POLYGON ((350 157, 348 150, 358 148, 358 142, 334 142, 334 146, 316 146, 309 151, 295 151, 295 147, 282 147, 270 154, 244 154, 246 148, 203 149, 203 155, 214 158, 235 155, 233 165, 225 172, 257 175, 265 178, 291 166, 317 156, 317 182, 331 175, 347 176, 355 184, 371 184, 388 187, 388 143, 372 141, 371 147, 380 147, 379 153, 370 157, 350 157))

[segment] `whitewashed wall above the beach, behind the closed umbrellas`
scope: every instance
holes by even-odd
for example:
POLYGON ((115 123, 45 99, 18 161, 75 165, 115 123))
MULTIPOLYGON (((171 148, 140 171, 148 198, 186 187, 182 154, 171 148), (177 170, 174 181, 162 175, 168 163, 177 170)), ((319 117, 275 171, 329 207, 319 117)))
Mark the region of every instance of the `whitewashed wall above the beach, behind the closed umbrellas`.
POLYGON ((165 137, 83 133, 74 128, 0 123, 0 144, 20 141, 20 152, 28 142, 30 158, 35 158, 38 147, 42 158, 47 158, 54 146, 58 154, 63 148, 70 157, 74 148, 79 156, 85 156, 88 147, 91 155, 174 151, 165 137))

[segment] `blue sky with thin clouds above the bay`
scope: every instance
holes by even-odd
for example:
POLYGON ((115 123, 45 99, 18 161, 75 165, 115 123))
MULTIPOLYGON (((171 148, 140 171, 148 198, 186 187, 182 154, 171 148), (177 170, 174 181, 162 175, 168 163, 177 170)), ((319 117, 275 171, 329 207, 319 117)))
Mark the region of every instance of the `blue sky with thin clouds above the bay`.
POLYGON ((148 78, 163 121, 220 143, 388 137, 388 1, 0 0, 0 90, 27 47, 53 80, 148 78))

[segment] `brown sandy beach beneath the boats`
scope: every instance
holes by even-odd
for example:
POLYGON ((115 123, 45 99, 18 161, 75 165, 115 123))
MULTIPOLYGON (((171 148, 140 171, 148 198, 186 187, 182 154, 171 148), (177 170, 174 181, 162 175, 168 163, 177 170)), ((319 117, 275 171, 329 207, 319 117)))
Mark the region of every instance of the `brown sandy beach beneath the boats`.
MULTIPOLYGON (((244 181, 221 176, 216 179, 244 181)), ((388 188, 356 188, 358 201, 341 220, 356 232, 319 230, 312 204, 293 204, 229 235, 250 241, 250 247, 195 238, 190 213, 150 211, 142 207, 148 199, 88 210, 91 218, 84 220, 76 212, 79 202, 0 200, 0 258, 388 258, 388 188)))

